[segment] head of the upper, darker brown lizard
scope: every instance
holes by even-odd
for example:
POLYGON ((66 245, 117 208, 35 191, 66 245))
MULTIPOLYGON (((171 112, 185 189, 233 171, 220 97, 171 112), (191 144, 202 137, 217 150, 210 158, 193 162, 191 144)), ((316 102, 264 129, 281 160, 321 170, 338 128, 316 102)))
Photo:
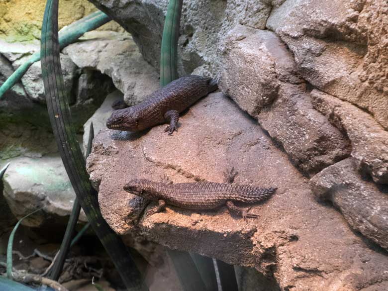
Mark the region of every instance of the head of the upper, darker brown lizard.
POLYGON ((138 131, 138 124, 137 116, 130 107, 114 110, 106 121, 107 128, 124 131, 138 131))

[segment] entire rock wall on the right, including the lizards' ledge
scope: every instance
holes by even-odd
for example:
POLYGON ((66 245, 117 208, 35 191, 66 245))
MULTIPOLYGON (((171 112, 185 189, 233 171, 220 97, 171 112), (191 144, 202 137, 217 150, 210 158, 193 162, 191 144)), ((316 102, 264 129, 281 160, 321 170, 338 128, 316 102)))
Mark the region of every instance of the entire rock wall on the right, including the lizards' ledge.
MULTIPOLYGON (((157 70, 167 1, 91 1, 157 70)), ((273 290, 386 290, 387 9, 384 0, 184 1, 179 73, 212 76, 222 94, 196 103, 173 137, 163 126, 100 132, 88 171, 111 227, 254 267, 273 290), (252 208, 258 220, 224 208, 144 217, 146 201, 122 190, 164 174, 220 182, 232 166, 236 183, 278 187, 252 208)))

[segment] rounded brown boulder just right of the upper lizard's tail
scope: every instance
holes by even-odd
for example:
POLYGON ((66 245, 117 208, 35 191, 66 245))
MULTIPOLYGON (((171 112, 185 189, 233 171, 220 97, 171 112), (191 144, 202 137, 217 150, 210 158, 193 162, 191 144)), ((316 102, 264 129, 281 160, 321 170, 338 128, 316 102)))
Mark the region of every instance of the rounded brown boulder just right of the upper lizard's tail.
POLYGON ((271 31, 238 25, 222 44, 219 87, 252 116, 270 107, 282 83, 302 84, 295 75, 292 55, 271 31))

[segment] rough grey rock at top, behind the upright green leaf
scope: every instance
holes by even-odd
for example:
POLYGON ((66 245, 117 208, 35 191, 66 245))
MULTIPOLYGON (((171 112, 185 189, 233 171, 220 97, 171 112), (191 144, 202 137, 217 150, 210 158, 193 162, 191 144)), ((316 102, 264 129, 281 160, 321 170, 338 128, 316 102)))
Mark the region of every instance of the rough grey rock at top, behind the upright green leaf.
MULTIPOLYGON (((132 35, 145 59, 159 68, 160 44, 167 0, 91 0, 132 35)), ((275 5, 282 0, 274 1, 275 5)), ((179 38, 179 72, 191 73, 203 67, 216 72, 219 43, 234 25, 241 23, 263 29, 272 1, 188 0, 184 1, 179 38)))

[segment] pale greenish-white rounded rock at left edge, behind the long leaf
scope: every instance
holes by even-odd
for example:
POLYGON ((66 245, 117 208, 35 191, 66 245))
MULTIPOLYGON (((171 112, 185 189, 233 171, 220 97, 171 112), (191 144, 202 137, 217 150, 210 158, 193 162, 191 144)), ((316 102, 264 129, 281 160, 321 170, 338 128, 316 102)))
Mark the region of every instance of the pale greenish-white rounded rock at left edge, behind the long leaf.
MULTIPOLYGON (((41 158, 12 159, 4 176, 4 197, 19 219, 43 207, 23 220, 24 225, 66 224, 75 199, 74 190, 58 154, 41 158)), ((82 221, 87 221, 82 212, 82 221)))

